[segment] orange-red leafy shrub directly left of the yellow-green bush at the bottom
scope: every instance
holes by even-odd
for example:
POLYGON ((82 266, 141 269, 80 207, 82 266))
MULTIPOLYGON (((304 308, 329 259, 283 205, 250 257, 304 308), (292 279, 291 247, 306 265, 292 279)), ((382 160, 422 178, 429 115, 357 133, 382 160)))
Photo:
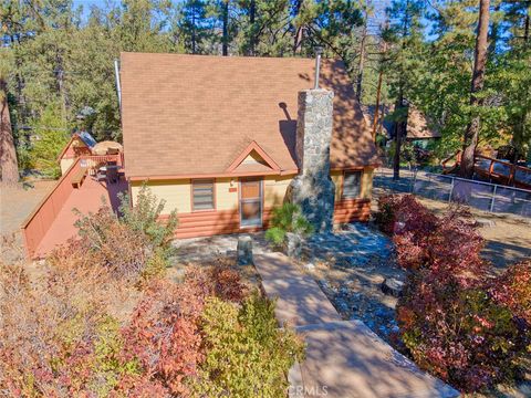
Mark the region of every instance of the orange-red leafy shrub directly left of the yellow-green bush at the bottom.
POLYGON ((158 281, 123 328, 123 357, 136 358, 143 373, 168 392, 187 395, 186 378, 197 374, 202 360, 198 320, 205 296, 188 284, 158 281))

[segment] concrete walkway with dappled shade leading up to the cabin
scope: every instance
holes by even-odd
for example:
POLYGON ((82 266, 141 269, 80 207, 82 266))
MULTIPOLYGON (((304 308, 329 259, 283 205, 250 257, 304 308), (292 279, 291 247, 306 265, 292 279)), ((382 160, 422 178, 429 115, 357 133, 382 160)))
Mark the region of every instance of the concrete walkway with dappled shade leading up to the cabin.
POLYGON ((382 341, 361 321, 342 321, 315 281, 281 253, 254 255, 281 325, 304 336, 306 359, 290 371, 291 397, 428 398, 459 392, 382 341))

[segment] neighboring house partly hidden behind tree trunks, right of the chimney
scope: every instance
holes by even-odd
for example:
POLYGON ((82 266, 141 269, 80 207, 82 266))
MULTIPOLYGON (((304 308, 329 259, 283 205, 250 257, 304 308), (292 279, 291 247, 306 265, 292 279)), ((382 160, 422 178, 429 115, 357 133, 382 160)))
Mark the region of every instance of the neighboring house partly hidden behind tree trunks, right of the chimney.
MULTIPOLYGON (((362 111, 371 126, 374 123, 374 113, 376 106, 363 105, 362 111)), ((392 113, 394 112, 394 105, 382 105, 378 112, 378 124, 376 132, 383 134, 387 139, 394 137, 394 123, 392 121, 392 113)), ((407 115, 407 135, 406 139, 413 144, 426 148, 429 142, 441 137, 440 132, 431 128, 424 115, 415 105, 409 104, 407 115)))

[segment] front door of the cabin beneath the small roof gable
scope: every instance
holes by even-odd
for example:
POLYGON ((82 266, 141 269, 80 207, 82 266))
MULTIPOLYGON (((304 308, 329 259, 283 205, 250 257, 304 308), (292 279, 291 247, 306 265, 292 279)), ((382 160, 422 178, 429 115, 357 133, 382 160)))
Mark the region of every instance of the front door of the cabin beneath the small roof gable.
POLYGON ((240 180, 240 227, 262 227, 262 180, 240 180))

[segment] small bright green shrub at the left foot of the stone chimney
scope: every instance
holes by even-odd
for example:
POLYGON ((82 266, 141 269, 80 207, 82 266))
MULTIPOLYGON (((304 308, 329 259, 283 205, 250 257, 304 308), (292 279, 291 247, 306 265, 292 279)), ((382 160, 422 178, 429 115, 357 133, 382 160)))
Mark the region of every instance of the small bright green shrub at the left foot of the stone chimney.
POLYGON ((271 228, 266 232, 266 239, 277 247, 285 244, 288 232, 308 237, 313 233, 313 226, 302 214, 298 205, 284 203, 273 209, 271 228))

